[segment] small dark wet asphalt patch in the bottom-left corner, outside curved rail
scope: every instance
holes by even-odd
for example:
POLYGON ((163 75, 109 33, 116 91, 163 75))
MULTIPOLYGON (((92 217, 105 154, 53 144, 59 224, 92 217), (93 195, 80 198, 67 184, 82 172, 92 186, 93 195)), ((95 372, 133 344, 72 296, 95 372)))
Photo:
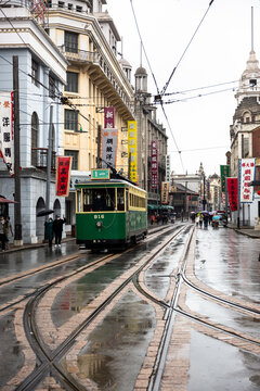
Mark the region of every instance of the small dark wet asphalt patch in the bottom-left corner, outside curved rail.
POLYGON ((0 388, 5 386, 24 364, 24 354, 13 323, 14 312, 0 317, 0 388))

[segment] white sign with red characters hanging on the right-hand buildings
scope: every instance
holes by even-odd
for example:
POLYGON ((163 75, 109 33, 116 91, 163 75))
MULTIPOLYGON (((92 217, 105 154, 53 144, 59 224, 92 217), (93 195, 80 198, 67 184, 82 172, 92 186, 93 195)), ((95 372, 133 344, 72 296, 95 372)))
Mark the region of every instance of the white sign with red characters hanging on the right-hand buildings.
POLYGON ((253 186, 249 182, 255 179, 256 159, 240 160, 240 202, 252 202, 253 186))

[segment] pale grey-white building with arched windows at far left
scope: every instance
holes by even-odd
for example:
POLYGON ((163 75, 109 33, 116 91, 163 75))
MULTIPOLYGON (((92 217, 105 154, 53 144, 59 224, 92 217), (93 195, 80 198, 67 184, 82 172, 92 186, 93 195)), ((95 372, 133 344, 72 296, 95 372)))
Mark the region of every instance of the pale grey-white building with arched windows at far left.
MULTIPOLYGON (((60 96, 66 83, 67 62, 40 26, 30 3, 0 4, 0 96, 13 90, 13 56, 18 59, 20 166, 22 240, 37 242, 44 236, 44 217, 39 211, 49 206, 65 213, 65 200, 55 195, 55 155, 62 154, 63 109, 60 96), (52 106, 51 140, 50 111, 52 106), (47 205, 47 154, 51 149, 50 204, 47 205)), ((40 20, 40 21, 39 21, 40 20)), ((14 178, 0 160, 0 194, 14 199, 14 178)), ((14 227, 14 206, 5 211, 14 227)), ((20 224, 20 223, 18 223, 20 224)))

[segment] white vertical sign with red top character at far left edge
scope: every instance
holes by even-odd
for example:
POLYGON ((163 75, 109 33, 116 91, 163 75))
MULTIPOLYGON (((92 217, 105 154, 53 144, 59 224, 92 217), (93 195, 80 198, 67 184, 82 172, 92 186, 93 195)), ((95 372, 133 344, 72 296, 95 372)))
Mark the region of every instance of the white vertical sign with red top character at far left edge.
POLYGON ((13 92, 0 92, 0 157, 14 175, 13 92))

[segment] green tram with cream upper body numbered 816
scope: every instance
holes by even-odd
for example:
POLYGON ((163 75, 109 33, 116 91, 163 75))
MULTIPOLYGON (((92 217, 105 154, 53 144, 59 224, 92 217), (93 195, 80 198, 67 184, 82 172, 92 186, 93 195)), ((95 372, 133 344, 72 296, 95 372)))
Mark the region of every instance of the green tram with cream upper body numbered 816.
POLYGON ((75 189, 78 244, 116 250, 146 237, 146 191, 122 179, 89 180, 75 189))

